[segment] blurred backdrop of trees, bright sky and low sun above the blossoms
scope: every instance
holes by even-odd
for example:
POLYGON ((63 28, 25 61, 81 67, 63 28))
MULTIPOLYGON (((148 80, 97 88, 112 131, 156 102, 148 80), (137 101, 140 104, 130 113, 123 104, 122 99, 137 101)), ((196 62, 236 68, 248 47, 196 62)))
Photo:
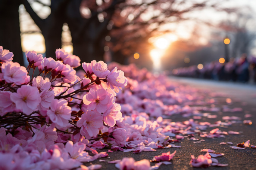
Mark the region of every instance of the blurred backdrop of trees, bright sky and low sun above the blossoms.
MULTIPOLYGON (((0 45, 82 62, 104 60, 172 70, 255 53, 255 7, 238 0, 1 0, 0 45)), ((17 57, 20 56, 20 57, 17 57)))

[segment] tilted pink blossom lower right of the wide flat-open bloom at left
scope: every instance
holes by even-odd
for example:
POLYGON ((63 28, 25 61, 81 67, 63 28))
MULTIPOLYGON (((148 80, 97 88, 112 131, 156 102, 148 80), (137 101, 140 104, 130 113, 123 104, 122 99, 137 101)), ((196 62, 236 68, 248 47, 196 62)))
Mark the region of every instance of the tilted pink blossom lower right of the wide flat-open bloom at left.
POLYGON ((71 117, 71 108, 67 106, 67 101, 64 99, 54 99, 47 111, 47 116, 58 126, 65 127, 71 117))

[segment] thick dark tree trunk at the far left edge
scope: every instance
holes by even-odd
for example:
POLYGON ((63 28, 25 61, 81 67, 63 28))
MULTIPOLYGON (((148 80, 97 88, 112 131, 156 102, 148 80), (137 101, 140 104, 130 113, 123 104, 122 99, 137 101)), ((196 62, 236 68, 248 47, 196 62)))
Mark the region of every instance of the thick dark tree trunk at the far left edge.
POLYGON ((23 65, 23 53, 21 50, 20 39, 20 20, 19 6, 20 0, 1 0, 0 1, 0 45, 4 49, 13 52, 13 62, 23 65))

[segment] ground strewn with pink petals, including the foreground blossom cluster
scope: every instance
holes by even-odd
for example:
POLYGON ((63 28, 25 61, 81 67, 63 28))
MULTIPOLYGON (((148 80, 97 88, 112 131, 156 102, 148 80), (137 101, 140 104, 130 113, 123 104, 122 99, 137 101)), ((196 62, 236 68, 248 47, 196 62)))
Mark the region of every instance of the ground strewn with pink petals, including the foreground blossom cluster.
POLYGON ((250 99, 135 65, 94 60, 76 72, 80 59, 63 49, 56 60, 27 52, 27 70, 9 53, 1 60, 0 169, 254 168, 250 99))

